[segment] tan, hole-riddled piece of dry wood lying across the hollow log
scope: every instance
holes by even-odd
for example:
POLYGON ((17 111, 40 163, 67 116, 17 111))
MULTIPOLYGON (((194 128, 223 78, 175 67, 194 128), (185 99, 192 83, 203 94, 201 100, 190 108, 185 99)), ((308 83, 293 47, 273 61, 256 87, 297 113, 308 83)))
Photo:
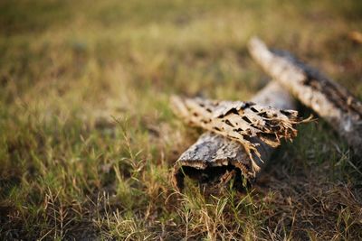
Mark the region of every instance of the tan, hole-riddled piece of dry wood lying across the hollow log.
MULTIPOLYGON (((261 158, 256 144, 250 141, 252 137, 259 137, 262 142, 277 147, 281 144, 281 138, 291 140, 297 135, 295 125, 310 120, 301 120, 295 110, 262 107, 252 102, 172 97, 171 104, 176 115, 187 124, 243 144, 252 160, 252 154, 261 158)), ((255 171, 259 169, 256 164, 253 164, 253 168, 255 171)))

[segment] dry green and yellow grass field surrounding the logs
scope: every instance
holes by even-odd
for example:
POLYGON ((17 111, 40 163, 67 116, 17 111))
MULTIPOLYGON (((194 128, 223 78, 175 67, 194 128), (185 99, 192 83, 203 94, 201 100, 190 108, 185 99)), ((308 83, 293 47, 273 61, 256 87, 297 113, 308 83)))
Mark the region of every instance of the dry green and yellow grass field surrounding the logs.
POLYGON ((170 183, 201 133, 170 95, 252 97, 257 34, 361 99, 351 31, 358 0, 1 1, 1 239, 362 239, 362 162, 320 119, 252 188, 170 183))

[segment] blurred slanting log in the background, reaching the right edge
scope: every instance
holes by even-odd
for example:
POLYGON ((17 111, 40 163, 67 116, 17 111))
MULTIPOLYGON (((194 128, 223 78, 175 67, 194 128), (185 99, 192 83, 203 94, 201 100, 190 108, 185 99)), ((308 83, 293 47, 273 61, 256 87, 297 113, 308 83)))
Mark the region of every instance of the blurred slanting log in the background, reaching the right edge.
POLYGON ((249 51, 271 78, 312 108, 343 136, 355 153, 362 149, 362 103, 318 70, 300 62, 285 51, 270 51, 257 38, 249 43, 249 51))

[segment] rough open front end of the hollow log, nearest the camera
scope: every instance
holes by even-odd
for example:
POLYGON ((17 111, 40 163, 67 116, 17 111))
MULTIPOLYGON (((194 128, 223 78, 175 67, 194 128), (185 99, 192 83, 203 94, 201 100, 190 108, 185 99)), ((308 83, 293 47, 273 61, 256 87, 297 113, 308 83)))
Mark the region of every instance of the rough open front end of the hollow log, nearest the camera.
MULTIPOLYGON (((258 140, 252 140, 258 143, 258 140)), ((262 158, 267 158, 269 148, 262 144, 259 151, 262 158)), ((188 177, 202 184, 223 184, 229 181, 230 173, 238 179, 252 183, 257 176, 255 166, 262 167, 262 159, 256 155, 252 159, 244 151, 243 145, 224 136, 207 132, 189 147, 177 160, 172 171, 172 182, 177 190, 183 190, 184 179, 188 177)))

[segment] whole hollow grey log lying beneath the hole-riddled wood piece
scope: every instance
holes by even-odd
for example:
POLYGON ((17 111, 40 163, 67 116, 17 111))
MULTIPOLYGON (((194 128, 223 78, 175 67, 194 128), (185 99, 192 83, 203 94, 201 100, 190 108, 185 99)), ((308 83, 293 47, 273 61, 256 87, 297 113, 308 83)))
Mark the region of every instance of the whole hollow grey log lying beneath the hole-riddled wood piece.
MULTIPOLYGON (((275 82, 263 88, 251 101, 261 106, 295 108, 288 92, 275 82)), ((182 189, 185 175, 200 182, 224 182, 230 179, 232 173, 253 181, 268 162, 272 148, 258 137, 252 137, 250 142, 256 144, 260 157, 253 155, 251 158, 242 144, 222 135, 212 132, 202 134, 177 160, 173 171, 174 184, 182 189), (259 169, 253 168, 253 163, 259 169)))

